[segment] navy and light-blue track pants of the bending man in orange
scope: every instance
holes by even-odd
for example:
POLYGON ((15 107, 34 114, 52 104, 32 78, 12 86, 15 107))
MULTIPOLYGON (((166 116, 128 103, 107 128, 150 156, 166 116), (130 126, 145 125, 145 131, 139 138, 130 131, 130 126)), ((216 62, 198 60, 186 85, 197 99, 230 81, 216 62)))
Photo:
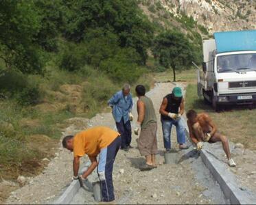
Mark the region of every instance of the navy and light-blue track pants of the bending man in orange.
POLYGON ((115 200, 112 172, 115 156, 117 156, 120 146, 121 137, 117 137, 109 146, 100 150, 97 174, 100 178, 103 202, 111 202, 115 200))

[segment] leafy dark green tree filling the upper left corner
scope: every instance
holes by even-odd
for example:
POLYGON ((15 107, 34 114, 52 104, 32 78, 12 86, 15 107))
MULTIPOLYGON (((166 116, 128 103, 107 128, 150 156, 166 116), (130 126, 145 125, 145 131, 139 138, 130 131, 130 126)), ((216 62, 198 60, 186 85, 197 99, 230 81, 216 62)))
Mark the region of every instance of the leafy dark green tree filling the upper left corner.
POLYGON ((7 68, 43 71, 43 51, 35 39, 39 30, 40 16, 33 1, 0 1, 0 58, 7 68))

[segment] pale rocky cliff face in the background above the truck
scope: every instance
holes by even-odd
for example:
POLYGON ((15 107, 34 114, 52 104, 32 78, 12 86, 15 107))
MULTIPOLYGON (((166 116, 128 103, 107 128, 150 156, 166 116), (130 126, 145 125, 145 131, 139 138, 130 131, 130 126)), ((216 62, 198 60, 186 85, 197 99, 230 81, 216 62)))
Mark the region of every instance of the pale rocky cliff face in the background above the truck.
POLYGON ((167 18, 172 25, 182 16, 192 17, 209 33, 256 29, 255 0, 142 0, 141 8, 146 14, 154 13, 151 17, 156 16, 154 11, 165 10, 165 15, 172 16, 167 18))

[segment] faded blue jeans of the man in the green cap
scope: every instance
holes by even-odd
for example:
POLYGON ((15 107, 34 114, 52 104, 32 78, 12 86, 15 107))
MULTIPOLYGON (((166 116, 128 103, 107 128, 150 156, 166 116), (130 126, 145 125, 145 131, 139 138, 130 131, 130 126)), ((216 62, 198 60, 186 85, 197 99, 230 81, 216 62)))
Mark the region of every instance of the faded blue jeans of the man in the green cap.
POLYGON ((185 124, 182 118, 178 120, 161 120, 163 130, 163 146, 165 149, 171 148, 172 125, 176 126, 177 141, 179 144, 186 142, 185 124))

